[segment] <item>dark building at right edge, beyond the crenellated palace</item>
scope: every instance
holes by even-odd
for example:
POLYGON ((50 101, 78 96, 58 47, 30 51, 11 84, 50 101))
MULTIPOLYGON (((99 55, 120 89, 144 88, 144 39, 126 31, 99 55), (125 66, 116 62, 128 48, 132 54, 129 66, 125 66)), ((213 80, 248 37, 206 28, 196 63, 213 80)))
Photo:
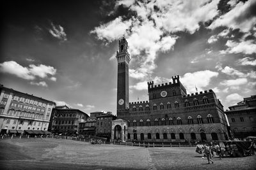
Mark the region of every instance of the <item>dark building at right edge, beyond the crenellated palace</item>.
POLYGON ((234 138, 256 136, 256 95, 228 107, 225 111, 234 138))

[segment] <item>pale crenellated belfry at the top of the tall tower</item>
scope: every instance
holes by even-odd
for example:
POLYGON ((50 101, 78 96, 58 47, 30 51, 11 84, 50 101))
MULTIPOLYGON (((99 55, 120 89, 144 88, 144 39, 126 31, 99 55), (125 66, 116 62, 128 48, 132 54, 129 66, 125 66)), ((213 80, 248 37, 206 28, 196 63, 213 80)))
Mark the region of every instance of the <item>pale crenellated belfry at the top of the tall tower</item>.
POLYGON ((126 62, 127 64, 129 64, 131 59, 130 59, 130 55, 127 51, 128 43, 127 43, 126 39, 124 38, 124 36, 119 39, 118 46, 119 46, 119 50, 116 52, 117 62, 118 63, 126 62))

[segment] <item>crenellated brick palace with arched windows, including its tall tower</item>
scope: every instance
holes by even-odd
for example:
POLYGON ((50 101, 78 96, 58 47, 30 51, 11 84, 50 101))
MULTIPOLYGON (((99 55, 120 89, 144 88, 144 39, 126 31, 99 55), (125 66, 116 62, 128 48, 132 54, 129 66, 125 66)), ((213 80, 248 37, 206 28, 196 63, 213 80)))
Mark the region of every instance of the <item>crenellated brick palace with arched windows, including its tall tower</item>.
POLYGON ((119 41, 117 120, 112 139, 122 141, 211 141, 228 139, 223 106, 212 90, 187 94, 179 80, 154 85, 148 82, 148 101, 129 103, 129 53, 119 41))

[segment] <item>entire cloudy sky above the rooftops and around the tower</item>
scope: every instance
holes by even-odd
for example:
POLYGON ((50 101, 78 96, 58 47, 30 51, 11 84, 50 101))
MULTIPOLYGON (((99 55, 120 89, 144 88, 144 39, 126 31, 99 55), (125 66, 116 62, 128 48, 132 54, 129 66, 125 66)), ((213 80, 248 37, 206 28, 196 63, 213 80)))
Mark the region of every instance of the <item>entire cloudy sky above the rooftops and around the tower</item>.
POLYGON ((180 75, 228 106, 255 93, 256 1, 3 1, 0 83, 90 113, 116 113, 127 38, 130 102, 180 75))

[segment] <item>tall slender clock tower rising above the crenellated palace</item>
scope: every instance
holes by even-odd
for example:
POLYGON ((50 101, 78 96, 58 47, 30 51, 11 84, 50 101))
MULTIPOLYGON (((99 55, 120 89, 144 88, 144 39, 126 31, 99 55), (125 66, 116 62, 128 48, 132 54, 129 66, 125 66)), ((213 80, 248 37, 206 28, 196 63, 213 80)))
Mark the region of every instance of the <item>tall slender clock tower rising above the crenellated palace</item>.
POLYGON ((119 40, 119 50, 116 52, 118 63, 117 71, 117 108, 116 113, 129 110, 129 62, 130 55, 127 52, 128 43, 123 37, 119 40))

